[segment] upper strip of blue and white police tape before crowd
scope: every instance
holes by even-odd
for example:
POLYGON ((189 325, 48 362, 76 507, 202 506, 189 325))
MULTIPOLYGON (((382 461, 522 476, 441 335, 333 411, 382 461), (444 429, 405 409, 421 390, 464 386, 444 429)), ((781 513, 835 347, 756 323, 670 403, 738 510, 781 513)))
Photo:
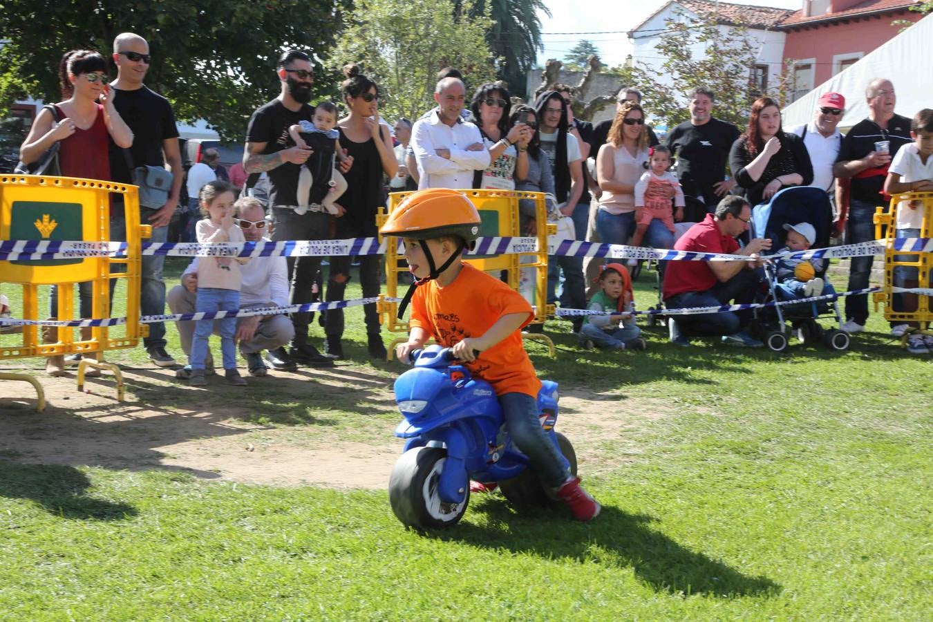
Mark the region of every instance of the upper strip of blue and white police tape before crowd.
MULTIPOLYGON (((887 242, 875 240, 857 244, 845 244, 831 248, 811 249, 769 256, 781 258, 841 258, 853 256, 884 255, 887 242)), ((200 242, 143 242, 144 256, 353 256, 383 255, 385 242, 377 238, 347 238, 343 240, 306 240, 287 242, 223 242, 202 244, 200 242)), ((892 250, 929 253, 933 252, 933 239, 902 238, 892 241, 892 250)), ((535 253, 537 238, 487 237, 477 241, 469 255, 502 255, 535 253)), ((401 251, 399 246, 398 251, 401 251)), ((0 242, 0 260, 33 261, 37 259, 73 259, 93 256, 125 256, 126 242, 70 242, 58 240, 7 240, 0 242)), ((548 239, 548 254, 552 256, 592 256, 611 259, 655 259, 669 261, 747 261, 745 255, 718 253, 690 253, 686 251, 653 249, 624 244, 581 242, 548 239)))

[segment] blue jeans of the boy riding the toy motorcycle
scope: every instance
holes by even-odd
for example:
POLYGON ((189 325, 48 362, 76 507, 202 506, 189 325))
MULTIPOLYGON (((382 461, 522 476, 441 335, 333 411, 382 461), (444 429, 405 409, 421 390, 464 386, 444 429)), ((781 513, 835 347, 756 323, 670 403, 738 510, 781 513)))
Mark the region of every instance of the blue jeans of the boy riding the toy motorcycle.
POLYGON ((501 394, 499 406, 515 447, 528 456, 541 482, 551 489, 560 488, 570 472, 564 469, 560 452, 537 420, 537 400, 526 394, 501 394))

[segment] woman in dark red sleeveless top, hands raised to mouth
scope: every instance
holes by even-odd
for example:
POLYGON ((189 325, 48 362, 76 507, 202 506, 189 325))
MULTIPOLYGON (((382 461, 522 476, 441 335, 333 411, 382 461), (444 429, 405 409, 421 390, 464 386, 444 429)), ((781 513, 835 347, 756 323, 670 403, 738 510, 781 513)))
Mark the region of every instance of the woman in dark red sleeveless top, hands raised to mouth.
MULTIPOLYGON (((119 116, 110 96, 107 64, 99 53, 74 49, 59 63, 59 83, 63 101, 52 104, 59 118, 56 123, 48 108, 43 108, 20 149, 20 158, 30 163, 55 143, 59 144, 58 161, 65 177, 110 181, 109 138, 120 147, 132 145, 132 131, 119 116)), ((49 315, 58 313, 58 287, 52 288, 49 315)), ((78 285, 81 317, 92 317, 91 283, 78 285)), ((46 331, 49 340, 54 330, 46 331)), ((91 328, 81 329, 81 339, 91 339, 91 328)), ((62 356, 46 359, 46 371, 51 376, 65 374, 62 356)), ((89 368, 86 375, 99 375, 89 368)))

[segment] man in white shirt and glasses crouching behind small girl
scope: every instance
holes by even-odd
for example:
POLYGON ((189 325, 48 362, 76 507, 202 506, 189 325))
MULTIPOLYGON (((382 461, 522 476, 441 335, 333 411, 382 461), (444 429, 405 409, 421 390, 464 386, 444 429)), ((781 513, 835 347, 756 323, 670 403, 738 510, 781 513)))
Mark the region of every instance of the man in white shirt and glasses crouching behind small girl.
MULTIPOLYGON (((234 222, 243 230, 246 242, 267 241, 263 237, 266 221, 262 203, 252 197, 238 200, 235 204, 234 222)), ((284 256, 253 257, 240 267, 243 279, 240 285, 240 309, 260 307, 285 307, 288 305, 288 267, 284 256)), ((195 257, 181 276, 181 284, 175 285, 168 295, 169 309, 173 313, 193 313, 197 306, 198 257, 195 257)), ((190 356, 193 322, 175 322, 182 350, 190 356)), ((273 369, 294 370, 295 363, 288 357, 284 346, 295 336, 295 328, 287 315, 251 315, 238 318, 236 339, 240 342, 240 353, 246 359, 249 373, 265 376, 267 364, 262 360, 262 351, 268 350, 268 366, 273 369)), ((210 354, 208 354, 210 355, 210 354)), ((208 363, 210 367, 210 363, 208 363)), ((176 378, 185 379, 190 366, 179 369, 176 378)))

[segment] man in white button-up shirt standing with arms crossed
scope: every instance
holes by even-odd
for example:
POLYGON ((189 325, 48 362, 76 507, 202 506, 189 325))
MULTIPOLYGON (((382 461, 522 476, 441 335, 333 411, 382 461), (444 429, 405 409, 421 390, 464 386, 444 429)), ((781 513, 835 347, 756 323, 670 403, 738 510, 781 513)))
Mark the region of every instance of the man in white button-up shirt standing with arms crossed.
POLYGON ((434 92, 438 108, 415 121, 411 147, 418 163, 418 189, 473 187, 473 172, 489 166, 489 151, 480 129, 460 113, 466 104, 466 87, 455 77, 438 82, 434 92))

